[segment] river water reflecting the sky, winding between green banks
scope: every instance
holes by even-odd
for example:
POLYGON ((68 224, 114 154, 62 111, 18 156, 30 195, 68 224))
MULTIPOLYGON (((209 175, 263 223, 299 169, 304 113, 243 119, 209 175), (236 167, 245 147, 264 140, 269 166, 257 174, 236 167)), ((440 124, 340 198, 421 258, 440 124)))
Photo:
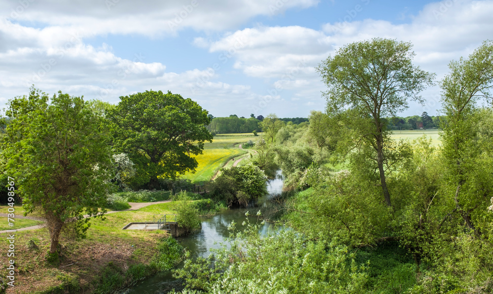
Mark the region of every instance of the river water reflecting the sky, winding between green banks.
MULTIPOLYGON (((187 237, 176 238, 183 247, 190 251, 191 258, 208 257, 211 254, 212 248, 220 248, 220 243, 224 242, 230 231, 228 226, 231 222, 235 222, 237 229, 241 229, 243 221, 246 220, 245 212, 248 210, 250 221, 256 220, 256 213, 262 206, 267 205, 270 197, 281 194, 283 177, 281 171, 278 170, 276 177, 267 181, 267 190, 269 194, 257 200, 256 203, 249 205, 247 208, 236 208, 225 210, 212 217, 202 219, 202 229, 200 232, 187 237)), ((260 233, 267 232, 271 226, 265 224, 260 228, 260 233)), ((178 266, 181 266, 178 265, 178 266)), ((163 294, 168 293, 171 288, 179 288, 179 281, 173 278, 172 271, 164 271, 151 276, 141 282, 132 289, 127 289, 122 293, 125 294, 163 294)), ((178 290, 178 289, 176 289, 178 290)))

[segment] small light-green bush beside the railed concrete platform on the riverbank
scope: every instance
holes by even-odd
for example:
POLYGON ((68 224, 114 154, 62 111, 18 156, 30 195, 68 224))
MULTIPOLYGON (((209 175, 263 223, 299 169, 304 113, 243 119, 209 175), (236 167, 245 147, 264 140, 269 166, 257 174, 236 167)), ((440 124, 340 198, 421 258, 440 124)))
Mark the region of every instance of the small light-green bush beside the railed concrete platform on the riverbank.
POLYGON ((176 210, 176 222, 185 230, 185 234, 200 229, 199 210, 185 193, 178 194, 177 200, 174 201, 174 210, 176 210))

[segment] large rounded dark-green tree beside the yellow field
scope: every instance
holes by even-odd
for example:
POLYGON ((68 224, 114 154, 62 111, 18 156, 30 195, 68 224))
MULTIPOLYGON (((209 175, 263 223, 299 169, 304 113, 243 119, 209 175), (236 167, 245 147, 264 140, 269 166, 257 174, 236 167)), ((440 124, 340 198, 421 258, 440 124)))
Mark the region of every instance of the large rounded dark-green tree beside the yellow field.
POLYGON ((208 112, 190 98, 168 91, 145 91, 120 97, 108 109, 113 147, 135 163, 135 185, 159 189, 159 178, 195 171, 192 155, 202 154, 204 141, 212 141, 206 126, 208 112))

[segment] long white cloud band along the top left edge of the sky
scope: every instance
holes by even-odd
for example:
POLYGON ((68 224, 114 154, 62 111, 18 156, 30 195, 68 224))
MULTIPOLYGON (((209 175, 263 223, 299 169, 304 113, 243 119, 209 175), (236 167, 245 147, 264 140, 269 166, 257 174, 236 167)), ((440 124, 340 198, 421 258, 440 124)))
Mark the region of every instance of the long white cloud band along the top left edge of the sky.
POLYGON ((138 33, 147 36, 174 34, 191 28, 221 31, 248 19, 271 16, 289 8, 307 8, 318 0, 23 0, 0 2, 0 11, 15 21, 50 27, 71 27, 85 36, 138 33), (25 4, 23 4, 25 3, 25 4), (275 9, 272 9, 275 7, 275 9))

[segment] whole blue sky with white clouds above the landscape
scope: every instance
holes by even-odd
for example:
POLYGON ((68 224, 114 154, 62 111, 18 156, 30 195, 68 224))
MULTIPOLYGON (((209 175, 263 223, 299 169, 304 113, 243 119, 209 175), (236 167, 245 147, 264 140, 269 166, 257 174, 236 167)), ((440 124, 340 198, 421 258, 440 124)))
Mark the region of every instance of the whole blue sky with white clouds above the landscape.
MULTIPOLYGON (((315 68, 352 42, 411 42, 436 73, 493 38, 493 0, 0 0, 0 108, 31 85, 118 103, 146 90, 213 116, 324 111, 315 68)), ((402 116, 439 114, 440 88, 402 116)))

